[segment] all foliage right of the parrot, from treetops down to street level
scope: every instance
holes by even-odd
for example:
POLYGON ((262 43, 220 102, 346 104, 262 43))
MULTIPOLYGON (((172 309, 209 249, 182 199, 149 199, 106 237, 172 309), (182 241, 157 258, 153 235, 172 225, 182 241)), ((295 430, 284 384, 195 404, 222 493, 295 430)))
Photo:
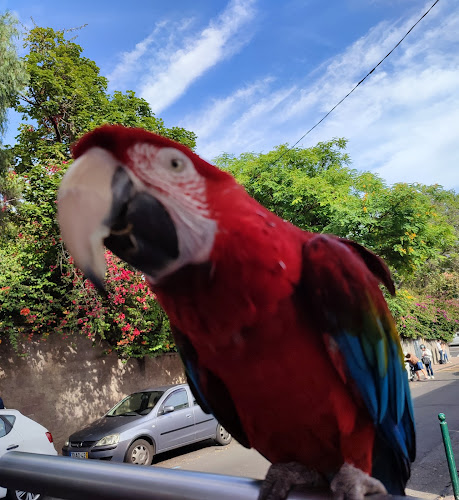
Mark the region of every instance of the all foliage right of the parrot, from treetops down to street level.
POLYGON ((440 186, 387 186, 350 168, 345 148, 333 139, 216 162, 282 218, 383 257, 398 285, 388 302, 403 336, 450 339, 459 323, 459 196, 440 186))

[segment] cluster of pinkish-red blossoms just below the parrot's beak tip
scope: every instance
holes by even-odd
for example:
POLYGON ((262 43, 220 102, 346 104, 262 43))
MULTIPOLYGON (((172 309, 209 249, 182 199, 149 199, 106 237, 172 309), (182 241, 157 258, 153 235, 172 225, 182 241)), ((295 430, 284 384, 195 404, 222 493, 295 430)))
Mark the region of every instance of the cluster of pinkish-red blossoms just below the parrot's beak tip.
MULTIPOLYGON (((72 259, 70 258, 70 264, 72 259)), ((169 320, 144 277, 106 252, 107 296, 104 298, 73 265, 65 277, 72 283, 68 310, 57 326, 79 330, 89 339, 104 339, 123 358, 174 349, 169 320)))

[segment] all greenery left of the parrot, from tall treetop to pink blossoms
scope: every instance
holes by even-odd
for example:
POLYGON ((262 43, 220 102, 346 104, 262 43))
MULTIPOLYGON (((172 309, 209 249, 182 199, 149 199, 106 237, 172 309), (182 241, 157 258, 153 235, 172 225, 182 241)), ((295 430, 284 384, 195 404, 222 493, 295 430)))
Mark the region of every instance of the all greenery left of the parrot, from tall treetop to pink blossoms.
POLYGON ((108 255, 103 298, 74 268, 59 236, 56 194, 71 163, 72 142, 97 125, 143 127, 191 148, 195 135, 166 128, 132 91, 107 94, 99 68, 63 32, 36 27, 25 40, 29 82, 16 110, 30 121, 20 125, 17 144, 4 151, 6 177, 20 196, 14 206, 3 205, 14 224, 0 243, 0 336, 19 346, 30 335, 78 330, 105 340, 121 357, 173 349, 168 320, 140 274, 108 255), (128 286, 118 283, 121 275, 128 286))

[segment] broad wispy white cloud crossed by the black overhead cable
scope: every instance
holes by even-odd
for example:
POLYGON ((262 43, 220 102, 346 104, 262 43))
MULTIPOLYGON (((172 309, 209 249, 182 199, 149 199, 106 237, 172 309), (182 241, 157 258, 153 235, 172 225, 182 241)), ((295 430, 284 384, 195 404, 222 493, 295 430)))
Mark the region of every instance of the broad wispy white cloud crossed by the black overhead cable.
MULTIPOLYGON (((207 158, 293 144, 387 54, 420 12, 378 24, 303 81, 283 87, 279 80, 260 79, 213 100, 181 125, 197 133, 198 153, 207 158)), ((360 170, 372 169, 389 182, 458 189, 458 109, 459 13, 439 4, 300 145, 346 137, 360 170)))

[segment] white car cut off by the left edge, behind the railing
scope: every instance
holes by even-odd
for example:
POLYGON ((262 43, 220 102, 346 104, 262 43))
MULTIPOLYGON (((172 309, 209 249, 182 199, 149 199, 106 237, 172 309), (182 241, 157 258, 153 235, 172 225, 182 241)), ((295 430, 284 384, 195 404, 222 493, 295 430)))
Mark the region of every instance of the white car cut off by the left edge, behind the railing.
MULTIPOLYGON (((12 450, 57 455, 53 436, 47 429, 17 410, 3 409, 0 410, 0 457, 12 450)), ((5 497, 12 500, 44 498, 36 493, 7 490, 0 486, 0 498, 5 497)))

